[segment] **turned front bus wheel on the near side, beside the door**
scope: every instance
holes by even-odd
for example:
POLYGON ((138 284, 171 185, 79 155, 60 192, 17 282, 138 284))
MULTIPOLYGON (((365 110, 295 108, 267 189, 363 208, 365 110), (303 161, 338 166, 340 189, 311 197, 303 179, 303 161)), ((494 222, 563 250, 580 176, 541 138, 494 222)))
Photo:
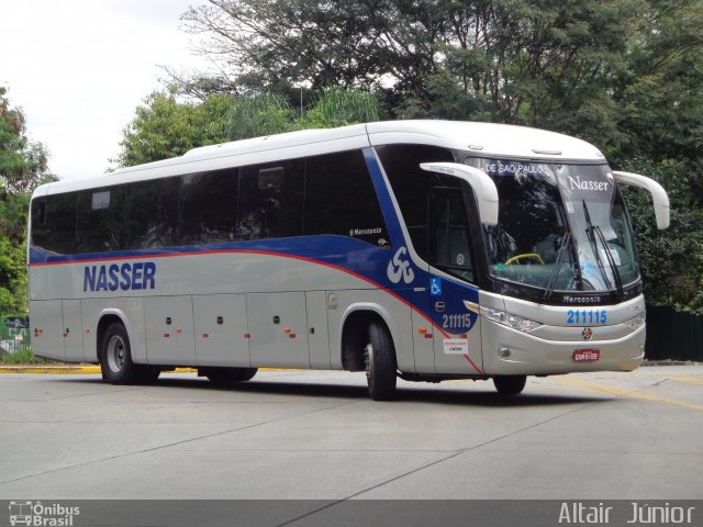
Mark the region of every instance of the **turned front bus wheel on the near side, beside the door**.
POLYGON ((398 370, 393 339, 382 323, 373 321, 369 325, 367 341, 364 362, 369 396, 373 401, 389 401, 395 395, 398 370))

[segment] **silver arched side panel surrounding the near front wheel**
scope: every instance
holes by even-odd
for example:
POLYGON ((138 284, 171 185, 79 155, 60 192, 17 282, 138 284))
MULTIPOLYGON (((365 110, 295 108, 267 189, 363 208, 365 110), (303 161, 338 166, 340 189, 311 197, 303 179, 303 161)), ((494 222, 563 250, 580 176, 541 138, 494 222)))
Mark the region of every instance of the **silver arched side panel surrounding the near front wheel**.
POLYGON ((398 369, 403 372, 415 372, 413 348, 413 325, 409 303, 393 298, 384 290, 347 290, 331 292, 336 296, 335 307, 330 307, 330 351, 332 368, 342 369, 342 330, 343 323, 352 313, 367 311, 377 313, 388 325, 393 345, 398 369))

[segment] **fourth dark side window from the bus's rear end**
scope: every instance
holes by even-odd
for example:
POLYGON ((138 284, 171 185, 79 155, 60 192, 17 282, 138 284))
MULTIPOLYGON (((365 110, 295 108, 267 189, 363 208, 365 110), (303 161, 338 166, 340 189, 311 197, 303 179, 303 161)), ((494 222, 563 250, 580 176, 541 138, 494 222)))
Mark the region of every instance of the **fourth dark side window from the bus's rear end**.
POLYGON ((181 178, 178 206, 181 245, 236 238, 237 187, 236 168, 181 178))

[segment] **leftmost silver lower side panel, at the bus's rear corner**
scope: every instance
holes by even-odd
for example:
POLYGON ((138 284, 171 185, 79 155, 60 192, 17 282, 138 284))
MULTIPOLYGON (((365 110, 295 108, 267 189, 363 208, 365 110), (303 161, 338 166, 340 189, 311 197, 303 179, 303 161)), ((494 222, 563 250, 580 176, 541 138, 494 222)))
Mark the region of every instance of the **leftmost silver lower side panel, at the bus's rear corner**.
POLYGON ((64 314, 60 300, 30 302, 30 327, 34 355, 66 360, 64 348, 64 314))

